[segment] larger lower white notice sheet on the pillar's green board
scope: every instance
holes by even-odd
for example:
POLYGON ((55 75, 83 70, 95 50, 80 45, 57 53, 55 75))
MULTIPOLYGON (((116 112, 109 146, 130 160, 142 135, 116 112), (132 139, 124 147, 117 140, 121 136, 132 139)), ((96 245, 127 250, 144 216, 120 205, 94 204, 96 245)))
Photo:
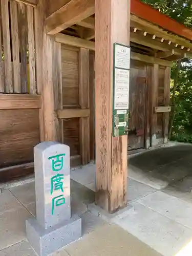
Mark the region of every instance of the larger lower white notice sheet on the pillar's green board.
POLYGON ((114 109, 129 109, 130 71, 115 69, 114 109))

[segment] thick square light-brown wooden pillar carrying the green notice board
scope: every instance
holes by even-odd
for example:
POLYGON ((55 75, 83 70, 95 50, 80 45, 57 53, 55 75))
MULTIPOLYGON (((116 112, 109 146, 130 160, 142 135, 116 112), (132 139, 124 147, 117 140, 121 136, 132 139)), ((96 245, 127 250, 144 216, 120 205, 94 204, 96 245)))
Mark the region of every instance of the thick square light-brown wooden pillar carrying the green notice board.
POLYGON ((130 44, 130 0, 95 0, 96 204, 127 203, 127 136, 112 137, 113 44, 130 44))

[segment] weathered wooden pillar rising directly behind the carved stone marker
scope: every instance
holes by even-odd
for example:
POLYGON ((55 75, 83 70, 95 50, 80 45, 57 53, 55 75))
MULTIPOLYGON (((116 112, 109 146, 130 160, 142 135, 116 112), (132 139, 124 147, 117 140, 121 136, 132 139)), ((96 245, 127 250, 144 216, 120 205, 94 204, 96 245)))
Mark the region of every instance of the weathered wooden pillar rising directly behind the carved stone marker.
POLYGON ((60 45, 46 33, 46 6, 46 0, 39 0, 34 11, 37 93, 41 94, 40 141, 61 142, 62 123, 56 115, 62 106, 60 45))

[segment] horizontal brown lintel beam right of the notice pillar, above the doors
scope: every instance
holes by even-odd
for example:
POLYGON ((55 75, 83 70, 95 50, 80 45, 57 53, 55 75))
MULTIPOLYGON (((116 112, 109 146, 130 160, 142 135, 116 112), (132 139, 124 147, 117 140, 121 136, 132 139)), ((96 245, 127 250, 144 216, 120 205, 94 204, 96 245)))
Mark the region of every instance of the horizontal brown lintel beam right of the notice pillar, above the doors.
POLYGON ((172 62, 164 59, 154 58, 152 56, 131 52, 131 59, 139 60, 147 63, 158 64, 160 66, 172 67, 172 62))

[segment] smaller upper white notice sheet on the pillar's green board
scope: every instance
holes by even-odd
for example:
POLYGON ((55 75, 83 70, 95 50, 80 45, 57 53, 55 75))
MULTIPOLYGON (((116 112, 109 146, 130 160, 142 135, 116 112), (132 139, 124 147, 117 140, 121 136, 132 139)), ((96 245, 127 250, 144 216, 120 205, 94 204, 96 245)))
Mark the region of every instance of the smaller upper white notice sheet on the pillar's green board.
POLYGON ((130 47, 115 45, 115 68, 130 69, 130 47))

